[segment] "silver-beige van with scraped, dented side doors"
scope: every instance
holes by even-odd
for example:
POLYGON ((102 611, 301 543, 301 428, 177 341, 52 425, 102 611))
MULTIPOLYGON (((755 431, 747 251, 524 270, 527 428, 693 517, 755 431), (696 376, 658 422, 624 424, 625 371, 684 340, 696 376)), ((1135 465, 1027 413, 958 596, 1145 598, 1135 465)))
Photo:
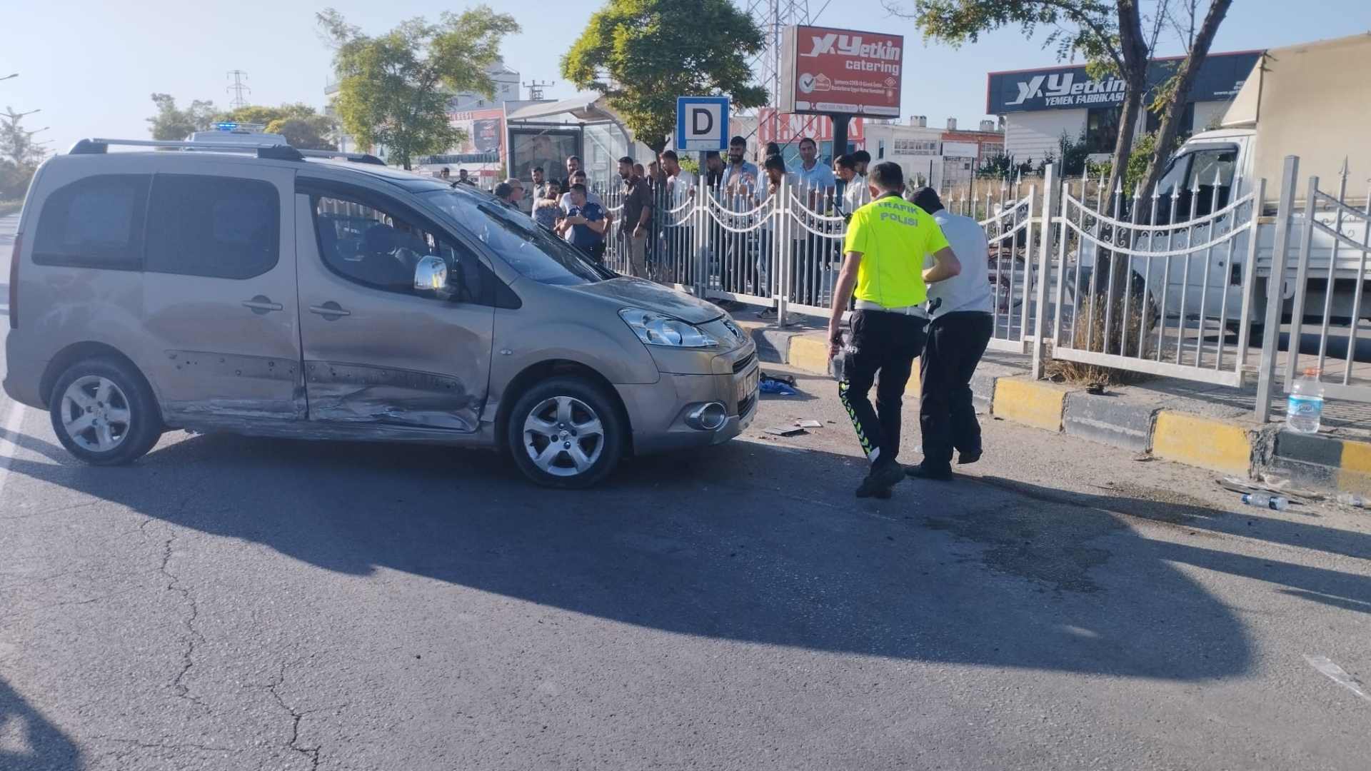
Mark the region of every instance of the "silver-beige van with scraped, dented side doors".
POLYGON ((725 313, 480 191, 366 155, 163 151, 184 144, 82 140, 25 200, 4 388, 86 462, 184 428, 498 449, 587 487, 755 414, 725 313))

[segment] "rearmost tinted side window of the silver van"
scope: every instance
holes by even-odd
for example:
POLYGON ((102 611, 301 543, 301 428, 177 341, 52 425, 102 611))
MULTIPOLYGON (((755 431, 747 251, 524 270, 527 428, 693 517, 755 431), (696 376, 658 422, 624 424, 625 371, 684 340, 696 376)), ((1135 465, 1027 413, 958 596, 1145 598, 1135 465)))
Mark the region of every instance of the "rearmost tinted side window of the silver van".
POLYGON ((63 185, 43 203, 33 240, 38 265, 137 270, 149 174, 97 174, 63 185))

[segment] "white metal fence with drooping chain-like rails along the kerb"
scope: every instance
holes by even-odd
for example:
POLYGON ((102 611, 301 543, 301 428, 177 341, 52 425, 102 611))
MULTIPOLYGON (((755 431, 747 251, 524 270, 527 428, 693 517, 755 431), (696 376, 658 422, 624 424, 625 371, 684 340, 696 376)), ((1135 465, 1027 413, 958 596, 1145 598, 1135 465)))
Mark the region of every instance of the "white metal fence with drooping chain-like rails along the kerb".
MULTIPOLYGON (((1300 199, 1298 161, 1289 159, 1272 220, 1265 181, 1231 196, 1224 162, 1149 198, 1061 180, 1052 166, 1041 180, 947 196, 949 211, 976 218, 990 243, 990 347, 1031 353, 1034 376, 1047 355, 1227 387, 1256 376, 1263 418, 1276 376, 1289 390, 1304 365, 1318 366, 1330 396, 1371 401, 1371 366, 1360 379, 1356 361, 1359 340, 1371 336, 1361 324, 1371 314, 1371 203, 1348 203, 1345 171, 1337 193, 1311 178, 1300 199), (1260 354, 1254 331, 1264 333, 1260 354)), ((629 273, 620 192, 602 198, 614 218, 607 265, 629 273)), ((650 278, 775 309, 780 324, 828 316, 849 207, 831 191, 764 178, 732 191, 658 185, 655 202, 650 278)))

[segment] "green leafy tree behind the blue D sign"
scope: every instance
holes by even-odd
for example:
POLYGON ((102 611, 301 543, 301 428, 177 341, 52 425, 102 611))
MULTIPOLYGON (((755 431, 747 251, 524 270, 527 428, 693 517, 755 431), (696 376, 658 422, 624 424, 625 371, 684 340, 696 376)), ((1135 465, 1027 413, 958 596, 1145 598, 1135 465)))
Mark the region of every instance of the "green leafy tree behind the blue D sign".
POLYGON ((749 64, 764 44, 751 16, 728 0, 609 0, 562 56, 562 77, 607 96, 638 140, 661 152, 676 128, 677 96, 766 104, 749 64))

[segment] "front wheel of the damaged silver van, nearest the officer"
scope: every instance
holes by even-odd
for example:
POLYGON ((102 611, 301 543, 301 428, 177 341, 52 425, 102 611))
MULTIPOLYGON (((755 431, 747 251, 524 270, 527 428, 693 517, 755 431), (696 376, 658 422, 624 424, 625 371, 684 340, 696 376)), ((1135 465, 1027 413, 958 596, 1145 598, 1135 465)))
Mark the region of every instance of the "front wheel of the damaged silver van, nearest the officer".
POLYGON ((506 436, 514 464, 544 487, 584 488, 603 480, 624 453, 613 398, 579 377, 539 383, 514 403, 506 436))

